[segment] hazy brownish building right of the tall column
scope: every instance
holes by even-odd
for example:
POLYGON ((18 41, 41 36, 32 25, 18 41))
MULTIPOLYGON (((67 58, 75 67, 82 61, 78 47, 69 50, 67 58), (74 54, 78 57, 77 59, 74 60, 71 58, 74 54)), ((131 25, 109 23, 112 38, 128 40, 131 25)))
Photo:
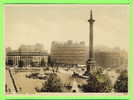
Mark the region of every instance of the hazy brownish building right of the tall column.
POLYGON ((128 55, 123 51, 96 51, 95 59, 104 68, 128 67, 128 55))

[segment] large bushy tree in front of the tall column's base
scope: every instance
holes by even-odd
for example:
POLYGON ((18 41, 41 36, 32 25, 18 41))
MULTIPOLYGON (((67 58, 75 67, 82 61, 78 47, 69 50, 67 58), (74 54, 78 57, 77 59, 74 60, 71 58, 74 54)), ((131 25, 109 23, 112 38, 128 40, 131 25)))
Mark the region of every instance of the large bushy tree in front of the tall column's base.
POLYGON ((97 70, 94 73, 89 73, 87 84, 82 86, 84 92, 111 92, 112 84, 108 76, 100 73, 97 70))

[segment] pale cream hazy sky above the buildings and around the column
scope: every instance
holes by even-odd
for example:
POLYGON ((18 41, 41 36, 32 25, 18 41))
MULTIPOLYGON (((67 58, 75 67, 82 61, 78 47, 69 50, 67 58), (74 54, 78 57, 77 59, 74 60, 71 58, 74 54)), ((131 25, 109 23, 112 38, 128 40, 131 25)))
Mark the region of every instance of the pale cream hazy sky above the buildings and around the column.
POLYGON ((41 43, 50 50, 52 41, 85 41, 89 44, 90 10, 93 12, 94 46, 129 49, 128 5, 8 4, 4 9, 5 47, 41 43))

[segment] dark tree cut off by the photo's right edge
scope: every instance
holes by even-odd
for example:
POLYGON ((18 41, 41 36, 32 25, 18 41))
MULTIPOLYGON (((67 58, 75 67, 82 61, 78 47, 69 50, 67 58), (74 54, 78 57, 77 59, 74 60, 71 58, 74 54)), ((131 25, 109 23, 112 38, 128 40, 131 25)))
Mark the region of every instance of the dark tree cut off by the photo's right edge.
POLYGON ((114 89, 116 92, 128 92, 128 74, 127 71, 122 71, 118 77, 114 89))

